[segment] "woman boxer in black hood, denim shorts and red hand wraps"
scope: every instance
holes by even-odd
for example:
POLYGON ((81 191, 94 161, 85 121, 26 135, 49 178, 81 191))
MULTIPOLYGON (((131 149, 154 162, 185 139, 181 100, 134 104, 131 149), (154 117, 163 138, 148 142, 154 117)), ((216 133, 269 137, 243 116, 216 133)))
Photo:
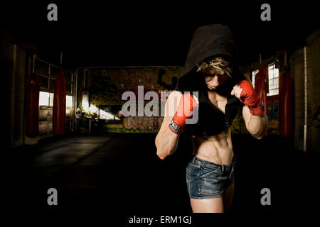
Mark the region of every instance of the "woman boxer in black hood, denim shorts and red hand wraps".
POLYGON ((185 70, 166 101, 166 115, 156 135, 161 159, 175 152, 182 131, 191 135, 194 157, 186 167, 186 183, 195 213, 230 211, 235 165, 230 126, 238 111, 255 138, 267 130, 262 100, 240 74, 235 55, 227 26, 196 30, 185 70), (193 116, 198 121, 188 123, 193 116))

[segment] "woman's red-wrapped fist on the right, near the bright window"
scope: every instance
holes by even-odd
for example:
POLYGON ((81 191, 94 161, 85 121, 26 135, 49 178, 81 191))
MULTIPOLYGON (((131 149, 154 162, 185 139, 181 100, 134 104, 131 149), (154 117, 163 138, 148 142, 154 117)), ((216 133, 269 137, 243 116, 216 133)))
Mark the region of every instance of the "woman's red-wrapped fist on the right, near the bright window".
POLYGON ((258 96, 252 84, 247 80, 240 81, 233 90, 231 94, 236 96, 240 101, 249 108, 249 111, 254 116, 262 116, 263 114, 263 104, 262 99, 258 96))

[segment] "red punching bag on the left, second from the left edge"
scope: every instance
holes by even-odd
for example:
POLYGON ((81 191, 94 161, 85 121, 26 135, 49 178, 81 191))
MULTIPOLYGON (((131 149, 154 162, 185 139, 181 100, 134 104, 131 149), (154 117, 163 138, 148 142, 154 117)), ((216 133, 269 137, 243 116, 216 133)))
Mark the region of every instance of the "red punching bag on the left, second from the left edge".
POLYGON ((53 96, 53 135, 65 133, 65 73, 62 67, 55 75, 55 94, 53 96))

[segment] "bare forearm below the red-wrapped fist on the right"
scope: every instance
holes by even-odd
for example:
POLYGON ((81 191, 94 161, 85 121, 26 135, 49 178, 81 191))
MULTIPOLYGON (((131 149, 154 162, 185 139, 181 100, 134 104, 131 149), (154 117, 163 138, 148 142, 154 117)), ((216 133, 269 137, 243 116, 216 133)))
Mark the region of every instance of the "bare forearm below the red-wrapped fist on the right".
POLYGON ((247 106, 243 106, 243 117, 247 131, 255 138, 260 139, 267 130, 268 119, 265 113, 262 116, 253 116, 247 106))

